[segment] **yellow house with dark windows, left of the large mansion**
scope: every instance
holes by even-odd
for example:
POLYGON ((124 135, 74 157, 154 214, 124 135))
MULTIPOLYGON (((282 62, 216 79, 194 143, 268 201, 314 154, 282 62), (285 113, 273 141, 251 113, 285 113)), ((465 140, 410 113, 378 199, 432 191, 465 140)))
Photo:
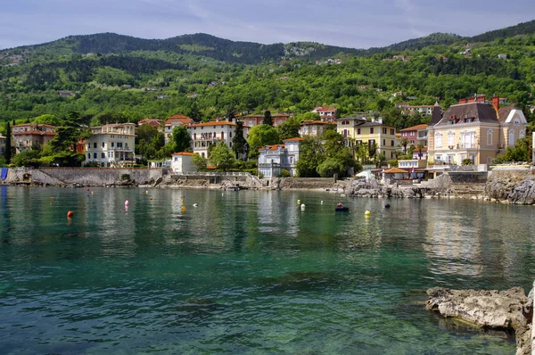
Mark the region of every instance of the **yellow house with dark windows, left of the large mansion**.
MULTIPOLYGON (((336 130, 350 146, 368 146, 370 156, 384 153, 386 159, 394 159, 396 152, 396 128, 383 124, 383 119, 366 120, 364 116, 346 117, 336 120, 336 130), (376 144, 376 151, 374 147, 376 144)), ((356 151, 356 149, 355 149, 356 151)))

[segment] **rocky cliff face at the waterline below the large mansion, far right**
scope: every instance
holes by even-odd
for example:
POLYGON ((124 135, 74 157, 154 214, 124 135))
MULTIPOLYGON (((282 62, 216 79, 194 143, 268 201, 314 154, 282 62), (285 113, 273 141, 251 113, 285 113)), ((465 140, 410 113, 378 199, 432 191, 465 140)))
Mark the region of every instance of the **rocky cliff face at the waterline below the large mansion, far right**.
POLYGON ((492 171, 485 194, 514 204, 535 204, 535 176, 531 171, 492 171))

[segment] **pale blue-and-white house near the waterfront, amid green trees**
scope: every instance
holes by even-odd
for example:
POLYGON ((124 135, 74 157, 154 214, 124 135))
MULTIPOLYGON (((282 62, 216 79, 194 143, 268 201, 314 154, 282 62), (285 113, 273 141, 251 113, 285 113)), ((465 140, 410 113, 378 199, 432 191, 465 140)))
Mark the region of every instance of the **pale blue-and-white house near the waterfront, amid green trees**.
POLYGON ((285 139, 284 144, 266 145, 259 149, 259 172, 264 177, 278 177, 283 169, 290 176, 297 175, 295 168, 299 160, 301 138, 285 139))

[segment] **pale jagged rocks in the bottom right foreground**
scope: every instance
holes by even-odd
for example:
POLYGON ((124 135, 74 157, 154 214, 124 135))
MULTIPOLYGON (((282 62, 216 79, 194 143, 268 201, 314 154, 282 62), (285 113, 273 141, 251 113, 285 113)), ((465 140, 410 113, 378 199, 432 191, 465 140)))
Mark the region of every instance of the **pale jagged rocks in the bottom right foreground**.
POLYGON ((425 308, 442 317, 461 320, 466 326, 514 331, 516 354, 531 354, 533 292, 523 288, 505 291, 452 290, 435 287, 427 290, 425 308))

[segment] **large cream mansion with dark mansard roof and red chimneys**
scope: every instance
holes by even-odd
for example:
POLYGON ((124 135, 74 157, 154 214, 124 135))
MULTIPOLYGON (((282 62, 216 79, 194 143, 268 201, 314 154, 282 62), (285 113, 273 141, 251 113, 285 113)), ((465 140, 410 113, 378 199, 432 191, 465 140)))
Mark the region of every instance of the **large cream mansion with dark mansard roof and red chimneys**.
POLYGON ((500 107, 499 97, 488 103, 484 95, 461 99, 443 115, 435 115, 428 129, 429 160, 461 165, 490 164, 517 139, 526 136, 523 111, 513 105, 500 107))

